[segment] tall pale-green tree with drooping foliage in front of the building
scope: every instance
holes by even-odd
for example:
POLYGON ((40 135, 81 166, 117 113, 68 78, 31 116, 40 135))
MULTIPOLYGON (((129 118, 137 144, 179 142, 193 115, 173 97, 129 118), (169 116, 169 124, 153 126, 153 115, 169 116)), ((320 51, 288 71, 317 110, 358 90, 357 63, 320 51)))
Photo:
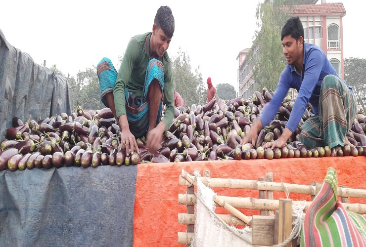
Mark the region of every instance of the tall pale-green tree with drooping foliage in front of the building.
MULTIPOLYGON (((281 30, 288 18, 290 10, 297 0, 275 0, 258 3, 256 10, 257 26, 253 47, 258 47, 258 59, 253 69, 255 90, 263 87, 274 91, 279 76, 286 66, 282 52, 281 30)), ((253 56, 253 52, 248 54, 253 56)))

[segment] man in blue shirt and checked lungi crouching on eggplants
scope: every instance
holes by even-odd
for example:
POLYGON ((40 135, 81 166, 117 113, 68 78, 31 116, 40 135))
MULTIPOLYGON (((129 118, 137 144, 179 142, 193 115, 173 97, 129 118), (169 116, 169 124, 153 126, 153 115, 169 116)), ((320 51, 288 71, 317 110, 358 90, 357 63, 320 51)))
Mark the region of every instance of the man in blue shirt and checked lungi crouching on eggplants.
POLYGON ((267 142, 264 148, 286 145, 308 103, 315 115, 302 124, 300 134, 300 141, 308 149, 329 146, 334 153, 344 144, 351 145, 346 133, 351 129, 357 111, 352 89, 339 78, 320 47, 304 42, 304 29, 299 17, 287 20, 281 31, 281 41, 288 64, 281 73, 273 99, 241 143, 255 144, 258 132, 274 119, 289 88, 295 88, 298 96, 286 127, 280 138, 267 142))

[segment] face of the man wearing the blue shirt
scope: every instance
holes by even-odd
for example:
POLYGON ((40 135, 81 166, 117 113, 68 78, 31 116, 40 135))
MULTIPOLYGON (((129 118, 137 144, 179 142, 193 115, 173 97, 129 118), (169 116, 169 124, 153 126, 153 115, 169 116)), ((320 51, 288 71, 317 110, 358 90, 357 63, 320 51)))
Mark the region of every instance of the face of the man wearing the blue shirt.
POLYGON ((282 40, 282 46, 283 46, 283 54, 286 57, 287 63, 289 65, 296 64, 299 59, 303 56, 303 50, 301 49, 303 47, 302 37, 296 42, 294 38, 291 37, 291 35, 287 35, 283 37, 282 40))

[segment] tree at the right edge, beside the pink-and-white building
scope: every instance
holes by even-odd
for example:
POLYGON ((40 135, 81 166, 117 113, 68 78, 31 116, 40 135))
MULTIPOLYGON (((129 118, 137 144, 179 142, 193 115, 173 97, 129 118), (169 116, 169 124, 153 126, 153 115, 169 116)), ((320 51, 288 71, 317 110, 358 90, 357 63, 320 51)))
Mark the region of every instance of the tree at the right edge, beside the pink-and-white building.
POLYGON ((358 57, 345 58, 344 80, 352 86, 357 103, 366 109, 366 59, 358 57))

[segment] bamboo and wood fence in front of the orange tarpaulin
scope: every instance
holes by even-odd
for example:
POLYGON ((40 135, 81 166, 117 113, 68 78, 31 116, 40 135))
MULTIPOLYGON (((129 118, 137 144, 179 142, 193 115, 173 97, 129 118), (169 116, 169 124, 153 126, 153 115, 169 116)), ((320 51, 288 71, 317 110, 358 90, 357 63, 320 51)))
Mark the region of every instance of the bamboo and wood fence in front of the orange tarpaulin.
MULTIPOLYGON (((213 198, 216 206, 224 207, 229 212, 229 214, 217 215, 225 223, 228 225, 249 225, 252 227, 253 245, 271 246, 282 243, 290 236, 289 233, 291 233, 293 216, 290 216, 292 214, 292 205, 305 206, 304 210, 306 211, 312 203, 286 199, 274 200, 274 191, 307 194, 310 195, 313 200, 321 188, 321 184, 318 183, 299 185, 273 182, 272 172, 267 173, 267 181, 265 181, 264 178, 259 178, 258 181, 233 178, 211 178, 209 177, 210 172, 208 170, 205 170, 204 174, 205 176, 200 177, 200 179, 210 188, 250 189, 259 192, 259 198, 219 195, 214 195, 213 198), (236 208, 258 209, 260 210, 261 215, 248 216, 236 208)), ((194 194, 196 181, 194 176, 190 175, 187 171, 182 170, 182 173, 179 176, 179 184, 181 186, 187 186, 187 192, 178 195, 178 204, 187 206, 186 213, 178 214, 178 222, 179 224, 186 225, 187 231, 178 233, 178 244, 189 246, 194 237, 195 216, 192 207, 194 207, 196 202, 196 196, 194 194)), ((341 197, 342 205, 347 210, 366 214, 365 204, 348 203, 349 197, 366 198, 366 190, 341 186, 337 188, 337 193, 337 195, 341 197)), ((288 243, 287 246, 291 245, 296 246, 296 241, 294 240, 292 243, 288 243)))

